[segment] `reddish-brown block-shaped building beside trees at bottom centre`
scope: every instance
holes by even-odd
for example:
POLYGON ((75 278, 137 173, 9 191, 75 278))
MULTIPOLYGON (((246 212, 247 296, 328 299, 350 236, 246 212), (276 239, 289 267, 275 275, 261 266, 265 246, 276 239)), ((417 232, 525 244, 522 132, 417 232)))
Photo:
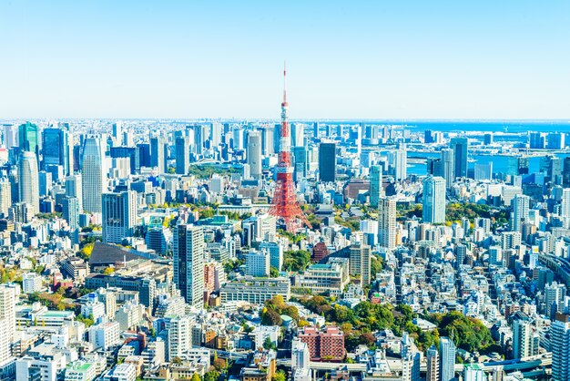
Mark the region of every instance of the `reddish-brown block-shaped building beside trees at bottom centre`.
POLYGON ((322 331, 308 326, 298 337, 309 346, 310 361, 341 361, 344 358, 344 334, 336 326, 329 325, 322 331))

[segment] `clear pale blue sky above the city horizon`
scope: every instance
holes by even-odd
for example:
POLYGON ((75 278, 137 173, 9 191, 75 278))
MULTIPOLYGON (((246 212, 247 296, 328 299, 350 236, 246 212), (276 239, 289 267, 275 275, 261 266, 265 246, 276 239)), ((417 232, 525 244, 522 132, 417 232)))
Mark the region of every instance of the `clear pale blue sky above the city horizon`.
POLYGON ((570 1, 0 2, 0 118, 570 118, 570 1))

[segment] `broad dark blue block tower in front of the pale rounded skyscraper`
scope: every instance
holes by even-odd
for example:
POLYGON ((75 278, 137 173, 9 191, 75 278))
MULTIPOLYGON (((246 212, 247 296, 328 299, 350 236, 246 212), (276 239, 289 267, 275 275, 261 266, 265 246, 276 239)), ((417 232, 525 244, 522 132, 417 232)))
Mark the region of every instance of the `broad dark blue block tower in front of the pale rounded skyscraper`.
POLYGON ((103 199, 103 242, 121 243, 137 225, 137 192, 105 193, 103 199))

